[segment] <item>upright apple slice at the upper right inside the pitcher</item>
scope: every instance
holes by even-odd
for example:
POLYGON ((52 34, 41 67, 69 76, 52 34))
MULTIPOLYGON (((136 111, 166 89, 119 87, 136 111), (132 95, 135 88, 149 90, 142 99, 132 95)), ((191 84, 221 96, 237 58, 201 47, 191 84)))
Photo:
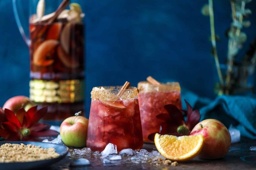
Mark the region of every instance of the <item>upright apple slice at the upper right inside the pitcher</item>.
POLYGON ((63 50, 66 54, 69 54, 70 49, 70 31, 71 31, 71 24, 67 23, 61 32, 60 42, 63 50))

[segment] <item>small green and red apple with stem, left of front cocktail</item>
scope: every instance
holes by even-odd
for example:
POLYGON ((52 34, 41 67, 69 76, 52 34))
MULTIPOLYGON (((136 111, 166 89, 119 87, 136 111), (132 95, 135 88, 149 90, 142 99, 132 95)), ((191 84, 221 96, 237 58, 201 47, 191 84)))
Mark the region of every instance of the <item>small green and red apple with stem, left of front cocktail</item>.
POLYGON ((83 116, 72 116, 65 119, 60 126, 60 135, 67 146, 86 146, 88 119, 83 116))

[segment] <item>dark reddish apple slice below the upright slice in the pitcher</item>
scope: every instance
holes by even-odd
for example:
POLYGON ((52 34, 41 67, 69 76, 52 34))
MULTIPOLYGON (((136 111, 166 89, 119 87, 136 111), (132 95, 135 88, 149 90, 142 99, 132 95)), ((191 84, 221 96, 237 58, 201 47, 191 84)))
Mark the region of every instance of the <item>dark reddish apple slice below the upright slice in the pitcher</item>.
POLYGON ((61 62, 68 68, 77 68, 79 67, 79 62, 77 60, 72 60, 70 55, 66 54, 62 47, 59 45, 57 47, 57 54, 61 62))

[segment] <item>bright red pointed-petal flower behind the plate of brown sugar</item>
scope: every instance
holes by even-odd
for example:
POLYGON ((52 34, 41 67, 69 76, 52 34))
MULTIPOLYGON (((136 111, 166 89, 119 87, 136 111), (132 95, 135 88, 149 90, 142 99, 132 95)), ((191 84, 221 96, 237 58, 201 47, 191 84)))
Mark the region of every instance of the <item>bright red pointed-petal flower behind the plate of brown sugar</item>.
POLYGON ((6 141, 38 141, 37 137, 58 135, 57 131, 49 129, 51 125, 38 123, 46 113, 47 107, 37 110, 37 106, 27 112, 21 108, 16 115, 5 109, 7 121, 1 123, 0 136, 6 141))

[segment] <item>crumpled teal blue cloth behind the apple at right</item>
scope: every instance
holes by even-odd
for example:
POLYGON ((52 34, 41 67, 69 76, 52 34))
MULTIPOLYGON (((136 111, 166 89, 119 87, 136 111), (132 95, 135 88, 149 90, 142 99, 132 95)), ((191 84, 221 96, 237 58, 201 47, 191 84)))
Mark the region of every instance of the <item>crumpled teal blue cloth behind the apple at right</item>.
POLYGON ((183 99, 194 109, 200 110, 201 120, 217 119, 227 127, 232 124, 240 130, 241 136, 256 139, 255 97, 221 95, 215 100, 210 100, 185 90, 183 99))

